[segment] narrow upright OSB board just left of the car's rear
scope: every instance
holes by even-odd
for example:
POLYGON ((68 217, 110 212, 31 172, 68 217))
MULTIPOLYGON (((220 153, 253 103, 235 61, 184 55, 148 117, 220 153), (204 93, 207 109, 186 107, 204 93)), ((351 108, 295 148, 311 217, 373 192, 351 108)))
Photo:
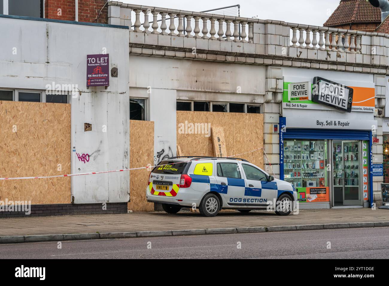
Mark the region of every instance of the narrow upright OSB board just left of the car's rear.
MULTIPOLYGON (((130 168, 154 166, 153 162, 154 121, 130 120, 130 168)), ((154 203, 146 200, 150 171, 147 169, 130 171, 129 210, 154 211, 154 203)))

